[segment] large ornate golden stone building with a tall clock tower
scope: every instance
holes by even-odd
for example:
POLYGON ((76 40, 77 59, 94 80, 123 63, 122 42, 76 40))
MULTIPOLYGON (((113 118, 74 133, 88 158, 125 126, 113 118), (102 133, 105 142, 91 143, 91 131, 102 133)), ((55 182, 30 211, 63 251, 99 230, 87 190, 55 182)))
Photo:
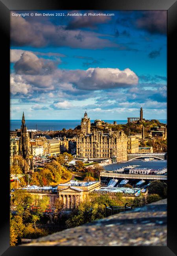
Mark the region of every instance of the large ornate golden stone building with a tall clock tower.
POLYGON ((85 112, 81 120, 81 134, 77 136, 77 156, 87 158, 112 158, 127 161, 127 135, 124 131, 107 133, 90 131, 90 118, 85 112))

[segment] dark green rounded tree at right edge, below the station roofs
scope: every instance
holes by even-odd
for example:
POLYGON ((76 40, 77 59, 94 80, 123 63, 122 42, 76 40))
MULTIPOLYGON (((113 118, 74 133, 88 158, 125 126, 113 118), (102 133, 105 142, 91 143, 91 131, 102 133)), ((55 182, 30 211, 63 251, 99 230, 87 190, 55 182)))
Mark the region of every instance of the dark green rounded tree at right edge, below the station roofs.
POLYGON ((160 180, 154 180, 148 187, 149 194, 158 194, 162 198, 167 198, 167 184, 160 180))

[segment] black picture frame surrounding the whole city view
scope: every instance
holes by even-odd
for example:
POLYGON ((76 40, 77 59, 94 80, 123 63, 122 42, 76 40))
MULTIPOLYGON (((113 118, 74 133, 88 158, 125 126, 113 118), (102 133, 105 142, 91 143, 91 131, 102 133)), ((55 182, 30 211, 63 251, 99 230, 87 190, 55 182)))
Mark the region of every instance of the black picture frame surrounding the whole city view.
MULTIPOLYGON (((176 85, 175 79, 175 32, 177 23, 177 1, 176 0, 97 0, 96 2, 72 2, 68 4, 67 1, 59 0, 1 0, 0 1, 0 30, 1 30, 1 43, 4 53, 3 58, 3 71, 2 77, 4 83, 2 83, 1 98, 5 99, 5 103, 2 105, 3 115, 2 121, 2 134, 5 145, 3 159, 6 163, 9 163, 9 144, 7 143, 7 137, 9 136, 9 22, 10 22, 10 10, 47 10, 47 9, 96 9, 96 10, 166 10, 168 13, 168 246, 167 247, 119 247, 117 252, 124 254, 136 255, 175 255, 177 253, 176 248, 176 225, 175 225, 175 187, 176 181, 174 178, 175 173, 175 150, 173 149, 174 139, 176 137, 176 128, 174 124, 173 116, 176 116, 175 111, 175 91, 173 87, 176 85), (174 63, 174 64, 173 64, 174 63), (172 116, 170 118, 170 115, 172 116), (7 134, 6 134, 7 133, 7 134), (7 149, 7 150, 6 150, 7 149), (6 156, 7 158, 4 158, 6 156), (174 165, 174 166, 173 166, 174 165), (174 215, 174 216, 173 216, 174 215)), ((176 144, 176 143, 174 143, 176 144)), ((1 203, 2 203, 2 218, 0 225, 0 254, 4 256, 10 255, 37 255, 45 251, 45 255, 48 253, 61 252, 57 247, 9 247, 9 165, 5 165, 5 169, 2 169, 2 189, 1 189, 1 203), (51 251, 52 250, 52 251, 51 251)), ((98 248, 97 248, 98 249, 98 248)), ((104 249, 104 248, 103 248, 104 249)), ((65 253, 68 248, 64 248, 65 253)), ((77 252, 72 249, 73 252, 78 253, 80 248, 77 247, 77 252)), ((84 253, 84 248, 83 252, 84 253)), ((92 248, 87 247, 87 252, 92 253, 92 248)), ((99 248, 101 250, 101 248, 99 248)), ((105 250, 105 249, 104 249, 105 250)), ((110 253, 111 248, 109 248, 110 253)))

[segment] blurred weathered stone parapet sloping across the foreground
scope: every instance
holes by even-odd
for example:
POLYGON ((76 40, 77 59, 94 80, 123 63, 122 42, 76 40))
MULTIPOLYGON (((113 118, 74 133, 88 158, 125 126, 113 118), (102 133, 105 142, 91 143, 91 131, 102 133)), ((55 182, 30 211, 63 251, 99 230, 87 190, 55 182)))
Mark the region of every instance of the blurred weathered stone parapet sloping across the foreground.
POLYGON ((167 199, 23 246, 167 246, 167 199))

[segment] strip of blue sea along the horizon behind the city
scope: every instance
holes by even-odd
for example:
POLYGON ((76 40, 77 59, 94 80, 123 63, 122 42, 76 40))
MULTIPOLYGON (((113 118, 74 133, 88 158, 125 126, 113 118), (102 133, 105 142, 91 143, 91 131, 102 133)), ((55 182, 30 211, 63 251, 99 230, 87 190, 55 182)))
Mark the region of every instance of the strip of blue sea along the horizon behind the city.
MULTIPOLYGON (((94 120, 90 120, 91 123, 94 122, 94 120)), ((113 123, 114 121, 117 122, 117 124, 126 124, 127 120, 103 120, 108 123, 113 123)), ((159 122, 163 124, 167 124, 167 120, 159 120, 159 122)), ((47 130, 62 130, 65 128, 68 129, 74 129, 77 125, 81 124, 81 120, 26 120, 26 127, 28 130, 35 130, 37 124, 37 130, 41 131, 47 131, 47 130)), ((21 126, 21 120, 10 120, 10 130, 13 131, 15 129, 20 129, 21 126)))

